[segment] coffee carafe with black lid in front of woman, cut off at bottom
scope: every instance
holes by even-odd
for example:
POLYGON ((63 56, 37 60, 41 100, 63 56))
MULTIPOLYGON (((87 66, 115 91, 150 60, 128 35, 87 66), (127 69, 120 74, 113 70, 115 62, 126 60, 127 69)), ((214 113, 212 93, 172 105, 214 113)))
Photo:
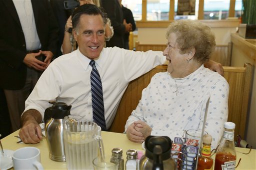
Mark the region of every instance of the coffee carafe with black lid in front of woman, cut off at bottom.
POLYGON ((147 137, 145 150, 145 155, 139 160, 139 170, 176 170, 176 163, 170 157, 171 140, 169 137, 147 137))

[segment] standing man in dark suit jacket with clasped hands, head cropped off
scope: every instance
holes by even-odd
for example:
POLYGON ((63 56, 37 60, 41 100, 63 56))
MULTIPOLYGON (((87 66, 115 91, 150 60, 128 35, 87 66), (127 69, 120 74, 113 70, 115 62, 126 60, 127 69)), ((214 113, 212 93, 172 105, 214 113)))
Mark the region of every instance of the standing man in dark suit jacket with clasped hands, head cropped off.
POLYGON ((0 11, 0 88, 15 131, 24 101, 56 52, 58 26, 48 0, 0 0, 0 11))

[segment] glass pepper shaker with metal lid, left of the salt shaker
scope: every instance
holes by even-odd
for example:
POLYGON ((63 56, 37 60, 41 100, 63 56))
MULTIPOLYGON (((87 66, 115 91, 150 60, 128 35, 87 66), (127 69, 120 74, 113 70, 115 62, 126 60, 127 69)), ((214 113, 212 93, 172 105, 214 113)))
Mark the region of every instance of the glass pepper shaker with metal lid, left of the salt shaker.
POLYGON ((122 159, 122 149, 121 148, 113 148, 112 149, 112 156, 111 156, 110 162, 117 165, 117 170, 124 170, 124 161, 122 159))

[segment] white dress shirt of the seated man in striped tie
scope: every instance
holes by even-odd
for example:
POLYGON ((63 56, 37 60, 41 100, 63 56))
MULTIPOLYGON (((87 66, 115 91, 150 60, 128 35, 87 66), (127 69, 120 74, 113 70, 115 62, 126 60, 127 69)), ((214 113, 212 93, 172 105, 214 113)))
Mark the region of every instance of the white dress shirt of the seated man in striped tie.
MULTIPOLYGON (((107 129, 128 83, 165 61, 161 51, 103 48, 95 63, 102 82, 107 129)), ((24 111, 36 109, 43 118, 44 110, 51 106, 48 101, 56 100, 72 105, 71 115, 92 121, 89 62, 79 49, 56 58, 42 73, 25 102, 24 111)))

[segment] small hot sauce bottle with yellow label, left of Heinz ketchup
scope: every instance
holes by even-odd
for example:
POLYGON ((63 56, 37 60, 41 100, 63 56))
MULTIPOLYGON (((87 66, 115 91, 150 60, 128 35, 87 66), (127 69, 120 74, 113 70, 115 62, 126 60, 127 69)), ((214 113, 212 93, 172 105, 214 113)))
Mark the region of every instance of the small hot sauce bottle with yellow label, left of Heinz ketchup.
POLYGON ((197 170, 212 170, 213 160, 210 158, 212 137, 208 134, 202 137, 202 151, 197 161, 197 170))

